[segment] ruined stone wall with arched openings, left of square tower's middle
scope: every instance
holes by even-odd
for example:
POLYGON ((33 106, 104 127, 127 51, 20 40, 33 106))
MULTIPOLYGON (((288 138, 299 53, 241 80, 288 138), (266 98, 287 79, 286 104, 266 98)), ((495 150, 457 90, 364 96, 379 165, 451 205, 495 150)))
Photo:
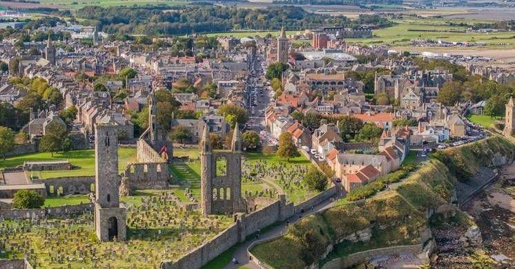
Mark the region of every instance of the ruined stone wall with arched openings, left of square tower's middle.
POLYGON ((95 183, 95 176, 66 176, 62 178, 48 178, 33 180, 32 183, 45 184, 48 196, 56 196, 59 187, 63 188, 61 195, 70 194, 89 194, 91 192, 91 184, 95 183), (53 186, 50 189, 50 186, 53 186))

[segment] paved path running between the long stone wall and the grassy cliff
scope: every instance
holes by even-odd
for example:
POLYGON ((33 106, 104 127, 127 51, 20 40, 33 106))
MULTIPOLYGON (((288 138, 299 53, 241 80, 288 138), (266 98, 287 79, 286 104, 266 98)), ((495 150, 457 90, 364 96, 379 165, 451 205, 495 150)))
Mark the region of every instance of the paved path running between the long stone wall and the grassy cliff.
MULTIPOLYGON (((290 224, 296 223, 299 221, 300 218, 304 216, 309 216, 313 213, 320 212, 322 210, 326 210, 329 207, 332 207, 334 203, 336 203, 338 199, 335 199, 334 201, 331 201, 331 199, 327 199, 326 201, 323 201, 322 203, 318 204, 317 206, 313 207, 313 210, 308 210, 307 212, 304 212, 303 214, 294 214, 291 216, 288 221, 290 224)), ((238 261, 238 264, 233 264, 232 261, 227 266, 225 266, 225 269, 235 269, 240 266, 246 266, 248 268, 252 269, 259 269, 260 266, 258 266, 254 261, 249 260, 249 255, 247 254, 246 250, 249 248, 249 245, 256 241, 264 241, 266 239, 271 239, 274 237, 278 237, 284 232, 286 232, 286 223, 281 223, 280 225, 277 225, 273 227, 271 230, 268 230, 266 232, 263 232, 260 234, 260 237, 258 239, 249 239, 242 243, 234 252, 233 256, 238 261)), ((232 259, 232 258, 231 258, 232 259)))

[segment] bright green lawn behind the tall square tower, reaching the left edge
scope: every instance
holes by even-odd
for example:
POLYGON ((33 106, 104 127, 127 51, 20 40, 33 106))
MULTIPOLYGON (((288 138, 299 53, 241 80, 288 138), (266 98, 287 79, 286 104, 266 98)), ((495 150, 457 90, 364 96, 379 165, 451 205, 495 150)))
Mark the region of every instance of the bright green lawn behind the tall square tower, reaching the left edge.
MULTIPOLYGON (((135 147, 119 147, 118 149, 118 170, 124 171, 129 161, 136 160, 135 147)), ((68 152, 55 153, 54 156, 48 152, 37 152, 24 154, 0 160, 0 169, 23 165, 26 161, 45 160, 68 160, 77 168, 72 170, 41 171, 41 178, 55 178, 61 176, 93 176, 95 175, 95 150, 83 149, 68 152)))

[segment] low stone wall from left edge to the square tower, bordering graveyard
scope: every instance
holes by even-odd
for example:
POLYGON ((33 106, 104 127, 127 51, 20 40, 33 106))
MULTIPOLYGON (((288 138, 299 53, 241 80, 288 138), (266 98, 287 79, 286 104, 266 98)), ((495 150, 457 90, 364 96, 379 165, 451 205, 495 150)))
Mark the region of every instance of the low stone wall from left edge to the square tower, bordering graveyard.
MULTIPOLYGON (((0 210, 0 218, 3 219, 45 219, 58 218, 74 214, 84 214, 93 212, 93 203, 83 203, 80 205, 62 205, 60 207, 45 207, 32 210, 0 210)), ((0 266, 0 268, 2 268, 0 266)))

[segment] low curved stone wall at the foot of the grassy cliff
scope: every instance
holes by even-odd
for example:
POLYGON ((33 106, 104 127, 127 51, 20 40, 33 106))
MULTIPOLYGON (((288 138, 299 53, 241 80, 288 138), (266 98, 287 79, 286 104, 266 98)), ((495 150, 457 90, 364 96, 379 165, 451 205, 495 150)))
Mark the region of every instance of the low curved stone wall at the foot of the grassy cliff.
POLYGON ((340 268, 349 268, 356 263, 360 263, 362 261, 367 261, 373 256, 388 256, 399 254, 400 252, 411 252, 414 254, 419 254, 423 250, 422 244, 417 245, 396 245, 393 247, 387 248, 376 248, 373 250, 365 250, 362 252, 356 252, 348 255, 344 258, 336 258, 328 263, 325 263, 322 266, 322 269, 340 269, 340 268))

